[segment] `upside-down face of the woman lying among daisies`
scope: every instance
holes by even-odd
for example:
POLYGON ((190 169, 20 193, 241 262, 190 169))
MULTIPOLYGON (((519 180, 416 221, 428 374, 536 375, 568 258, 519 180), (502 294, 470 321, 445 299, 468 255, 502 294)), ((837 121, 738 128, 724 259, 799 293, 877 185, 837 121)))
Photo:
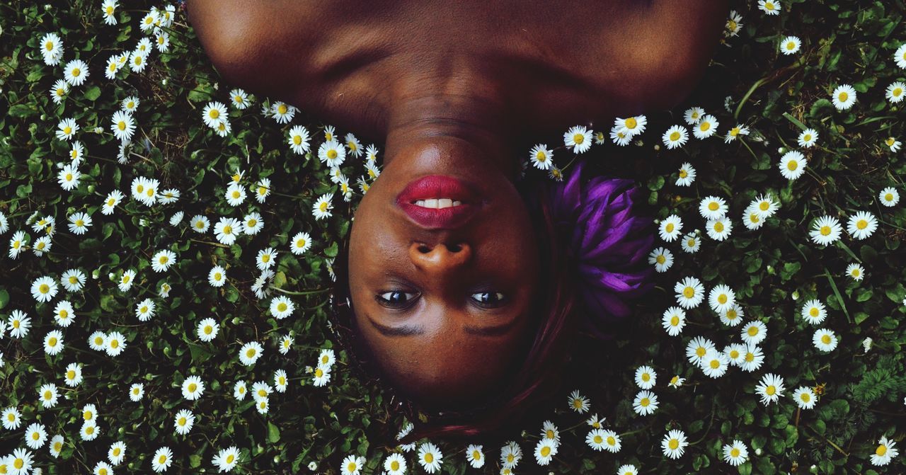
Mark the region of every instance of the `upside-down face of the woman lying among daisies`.
POLYGON ((512 182, 466 141, 434 138, 389 159, 352 224, 356 324, 404 393, 467 404, 506 383, 531 337, 535 230, 512 182))

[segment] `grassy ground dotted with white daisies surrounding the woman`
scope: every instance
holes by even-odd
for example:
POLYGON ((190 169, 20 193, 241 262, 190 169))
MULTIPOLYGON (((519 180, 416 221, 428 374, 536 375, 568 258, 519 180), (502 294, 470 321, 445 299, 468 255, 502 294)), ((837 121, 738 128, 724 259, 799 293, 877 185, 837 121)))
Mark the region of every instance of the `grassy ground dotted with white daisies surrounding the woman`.
POLYGON ((733 8, 688 101, 525 148, 637 180, 649 298, 508 441, 400 445, 327 315, 381 144, 177 5, 0 5, 0 473, 902 473, 903 6, 733 8))

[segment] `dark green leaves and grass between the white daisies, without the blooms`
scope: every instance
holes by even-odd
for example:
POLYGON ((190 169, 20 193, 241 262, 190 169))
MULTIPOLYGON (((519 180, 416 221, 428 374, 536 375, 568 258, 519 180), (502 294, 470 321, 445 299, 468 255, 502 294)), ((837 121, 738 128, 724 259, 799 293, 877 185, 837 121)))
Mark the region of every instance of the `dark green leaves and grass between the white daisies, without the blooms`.
MULTIPOLYGON (((64 437, 59 458, 51 457, 47 442, 34 451, 34 466, 45 473, 90 472, 106 460, 114 441, 128 447, 117 473, 149 472, 152 454, 165 446, 174 453, 169 473, 215 473, 211 459, 234 445, 240 452, 236 473, 306 472, 310 463, 319 472, 339 473, 341 460, 351 454, 365 458, 363 473, 380 473, 386 455, 399 451, 394 436, 404 418, 397 402, 374 381, 352 372, 350 356, 337 344, 327 315, 333 258, 348 236, 361 192, 356 187, 352 201, 344 201, 329 179, 330 170, 313 151, 297 154, 286 144, 289 129, 304 124, 317 150, 324 126, 302 114, 290 123, 276 123, 260 113, 262 106, 275 102, 250 96, 248 109, 227 109, 231 131, 218 136, 202 121, 202 111, 211 101, 230 104, 231 87, 211 68, 181 13, 165 28, 168 52, 151 53, 140 73, 127 67, 107 80, 103 72, 110 55, 128 53, 149 36, 139 23, 153 5, 120 6, 118 24, 107 25, 100 4, 73 0, 71 5, 0 5, 0 111, 6 112, 0 116, 0 211, 10 227, 0 235, 8 239, 17 230, 30 235, 22 255, 11 258, 4 252, 0 257, 0 315, 8 319, 21 310, 31 318, 23 338, 11 337, 7 330, 0 339, 0 406, 16 407, 23 419, 18 429, 0 430, 3 447, 23 447, 25 428, 39 422, 48 438, 64 437), (39 43, 46 33, 63 38, 59 65, 47 65, 41 58, 39 43), (64 64, 77 58, 89 64, 91 76, 57 104, 51 88, 63 78, 64 64), (120 163, 120 141, 111 133, 111 117, 132 95, 140 99, 132 115, 137 130, 120 163), (70 191, 57 182, 58 167, 69 163, 72 147, 55 137, 63 118, 79 124, 76 140, 85 147, 80 184, 70 191), (225 194, 240 170, 238 183, 248 197, 233 207, 225 194), (140 177, 158 179, 159 191, 178 189, 181 196, 175 203, 144 206, 129 196, 133 180, 140 177), (271 182, 265 203, 254 198, 261 179, 271 182), (101 206, 113 189, 126 198, 111 215, 104 215, 101 206), (333 193, 333 217, 315 219, 313 204, 324 193, 333 193), (67 229, 67 219, 78 212, 92 217, 84 235, 67 229), (184 218, 171 225, 177 212, 184 218), (252 212, 260 213, 265 227, 238 237, 234 245, 217 241, 211 229, 198 234, 189 226, 195 215, 206 216, 213 228, 220 217, 242 219, 252 212), (46 231, 33 230, 33 225, 43 217, 55 218, 55 232, 51 250, 38 257, 31 246, 46 231), (297 255, 290 249, 299 232, 308 233, 313 245, 297 255), (266 286, 270 296, 260 299, 252 290, 260 276, 255 258, 266 247, 274 247, 278 256, 266 286), (177 256, 176 263, 155 272, 152 257, 164 249, 177 256), (225 286, 208 285, 214 266, 226 270, 225 286), (30 295, 34 280, 51 276, 59 282, 68 269, 80 269, 87 277, 82 289, 68 292, 61 287, 53 301, 36 303, 30 295), (134 284, 120 291, 117 285, 129 270, 136 272, 134 284), (160 296, 163 284, 171 287, 169 296, 160 296), (291 298, 294 314, 275 318, 270 311, 274 296, 291 298), (157 305, 156 315, 140 321, 136 306, 146 298, 157 305), (54 306, 61 300, 74 307, 76 316, 68 327, 54 324, 54 306), (212 342, 198 338, 198 325, 206 318, 220 327, 212 342), (61 354, 43 349, 44 335, 52 330, 63 333, 61 354), (123 334, 123 354, 92 350, 87 342, 95 331, 123 334), (284 335, 294 340, 285 355, 278 350, 284 335), (238 359, 240 347, 248 342, 264 347, 261 359, 250 366, 238 359), (317 365, 322 349, 333 349, 337 363, 330 383, 316 387, 306 367, 317 365), (72 363, 81 367, 83 377, 75 387, 63 383, 72 363), (281 369, 288 374, 286 392, 270 394, 266 413, 257 412, 251 398, 234 398, 236 382, 246 382, 249 390, 254 382, 273 387, 275 371, 281 369), (181 393, 190 375, 206 384, 195 401, 181 393), (53 407, 39 402, 45 383, 58 387, 60 398, 53 407), (129 398, 134 383, 144 387, 140 402, 129 398), (88 403, 99 413, 101 435, 94 441, 82 441, 79 435, 82 407, 88 403), (196 416, 186 435, 174 432, 174 416, 182 409, 196 416)), ((698 229, 702 244, 692 254, 681 250, 679 241, 658 241, 657 246, 670 249, 675 262, 656 277, 655 290, 634 307, 631 321, 615 340, 577 341, 563 365, 572 385, 509 428, 509 438, 524 452, 516 473, 541 470, 533 451, 545 420, 554 422, 562 437, 545 472, 613 473, 622 464, 640 466, 643 473, 906 470, 902 456, 881 468, 872 468, 870 462, 882 435, 902 441, 906 415, 901 352, 906 345, 901 250, 906 206, 901 201, 884 207, 878 196, 886 187, 906 193, 903 152, 893 152, 885 143, 891 137, 906 141, 901 105, 906 102, 885 98, 888 85, 904 81, 904 70, 892 58, 906 41, 901 28, 906 9, 901 0, 782 4, 780 15, 767 16, 756 2, 737 2, 741 31, 718 46, 691 97, 673 111, 648 114, 648 131, 630 146, 595 146, 583 157, 602 173, 635 179, 656 218, 678 215, 684 233, 698 229), (788 34, 798 36, 802 47, 783 55, 779 44, 788 34), (855 105, 845 111, 836 110, 831 101, 840 84, 851 84, 858 92, 855 105), (689 106, 714 114, 720 136, 737 124, 747 126, 749 133, 728 143, 719 136, 690 138, 684 147, 666 150, 660 134, 684 123, 682 113, 689 106), (818 132, 816 145, 808 149, 796 145, 806 128, 818 132), (802 177, 788 180, 780 175, 778 163, 786 150, 805 154, 802 177), (698 171, 689 187, 676 185, 684 162, 698 171), (762 228, 749 230, 741 221, 743 209, 762 194, 770 194, 780 209, 762 228), (734 225, 723 241, 702 231, 706 221, 699 216, 699 200, 712 195, 727 200, 734 225), (841 240, 827 247, 809 239, 815 218, 827 215, 845 225, 861 210, 879 219, 871 237, 854 239, 844 231, 841 240), (863 280, 846 275, 853 263, 864 267, 863 280), (767 338, 760 344, 765 361, 757 371, 731 367, 723 377, 709 378, 698 365, 689 364, 686 344, 693 336, 707 337, 718 350, 741 341, 741 327, 722 324, 707 301, 688 311, 682 334, 664 332, 661 315, 676 305, 673 286, 685 276, 699 278, 706 290, 730 286, 745 320, 766 325, 767 338), (820 326, 833 330, 839 340, 829 353, 814 347, 817 326, 800 316, 811 299, 826 305, 828 316, 820 326), (658 375, 652 392, 660 406, 648 416, 632 409, 639 391, 634 373, 643 364, 658 375), (756 394, 765 373, 780 375, 786 386, 784 396, 767 405, 756 394), (669 387, 673 375, 686 382, 669 387), (797 407, 792 398, 797 387, 814 391, 814 409, 797 407), (591 412, 606 417, 603 427, 621 436, 621 451, 593 451, 586 445, 589 414, 577 414, 565 404, 574 388, 590 399, 591 412), (689 441, 677 460, 665 458, 660 449, 664 434, 673 429, 684 431, 689 441), (747 462, 737 468, 723 460, 724 445, 734 440, 744 442, 749 452, 747 462)), ((595 124, 594 129, 608 127, 595 124)), ((552 133, 538 141, 556 144, 558 137, 552 133)), ((557 165, 565 173, 571 171, 564 160, 570 156, 562 147, 557 153, 557 160, 563 160, 557 165)), ((365 174, 363 160, 348 158, 342 173, 354 182, 365 174)), ((467 466, 461 441, 433 442, 443 453, 444 473, 500 471, 498 441, 474 441, 484 444, 487 463, 482 470, 467 466)), ((423 471, 412 452, 404 455, 410 473, 423 471)))

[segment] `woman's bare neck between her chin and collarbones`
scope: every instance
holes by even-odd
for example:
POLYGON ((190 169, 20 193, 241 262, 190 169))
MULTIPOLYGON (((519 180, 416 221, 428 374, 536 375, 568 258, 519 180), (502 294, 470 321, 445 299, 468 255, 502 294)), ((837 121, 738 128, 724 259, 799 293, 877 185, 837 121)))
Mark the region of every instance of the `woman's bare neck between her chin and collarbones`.
POLYGON ((454 154, 463 166, 494 167, 509 179, 520 169, 515 135, 506 120, 502 101, 472 94, 418 94, 396 101, 390 111, 385 166, 415 143, 467 142, 469 153, 454 154), (449 141, 448 139, 458 139, 449 141), (475 153, 471 150, 480 150, 475 153))

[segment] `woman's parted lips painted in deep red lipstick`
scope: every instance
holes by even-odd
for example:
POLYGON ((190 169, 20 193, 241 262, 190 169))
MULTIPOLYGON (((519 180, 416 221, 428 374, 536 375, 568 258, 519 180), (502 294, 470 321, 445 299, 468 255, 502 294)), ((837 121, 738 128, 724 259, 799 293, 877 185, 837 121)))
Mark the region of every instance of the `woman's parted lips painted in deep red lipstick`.
POLYGON ((397 206, 422 228, 458 228, 475 216, 482 199, 465 181, 446 175, 429 175, 415 179, 397 196, 397 206), (423 208, 415 204, 419 199, 453 199, 462 201, 450 208, 423 208))

